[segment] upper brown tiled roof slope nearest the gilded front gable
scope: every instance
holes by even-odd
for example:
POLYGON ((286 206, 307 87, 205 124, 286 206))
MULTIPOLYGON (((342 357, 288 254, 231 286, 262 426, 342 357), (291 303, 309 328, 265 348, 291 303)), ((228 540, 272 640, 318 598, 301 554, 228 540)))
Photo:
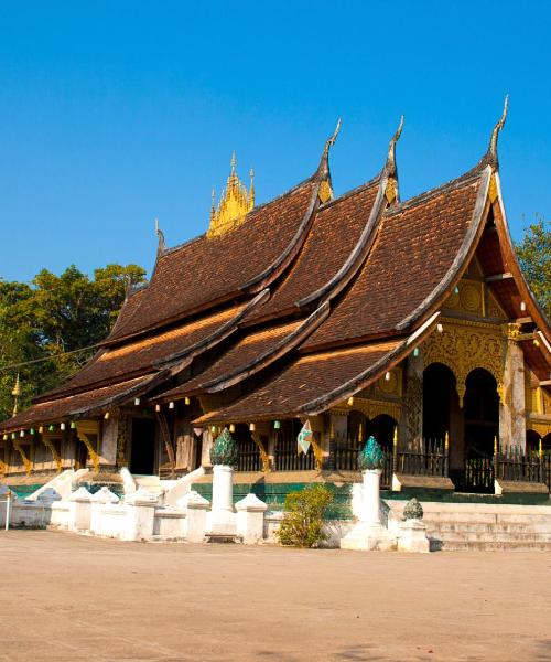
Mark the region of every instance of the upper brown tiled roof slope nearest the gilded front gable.
MULTIPOLYGON (((474 214, 488 175, 476 172, 385 212, 355 282, 305 341, 304 351, 396 334, 455 265, 473 224, 480 225, 480 205, 474 214)), ((463 265, 455 266, 457 277, 463 265)))

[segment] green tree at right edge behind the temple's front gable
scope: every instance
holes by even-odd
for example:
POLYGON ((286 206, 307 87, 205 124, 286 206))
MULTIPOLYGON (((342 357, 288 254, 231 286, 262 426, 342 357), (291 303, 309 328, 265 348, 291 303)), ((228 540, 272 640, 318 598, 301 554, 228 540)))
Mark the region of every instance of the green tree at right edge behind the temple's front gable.
POLYGON ((532 292, 551 318, 551 229, 550 222, 536 215, 516 245, 517 256, 532 292))

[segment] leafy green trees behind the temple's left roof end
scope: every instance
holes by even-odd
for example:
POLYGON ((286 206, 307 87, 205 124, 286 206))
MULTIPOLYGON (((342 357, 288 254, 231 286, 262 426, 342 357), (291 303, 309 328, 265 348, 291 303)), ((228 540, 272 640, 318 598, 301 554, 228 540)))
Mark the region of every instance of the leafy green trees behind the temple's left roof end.
POLYGON ((0 279, 0 419, 12 413, 17 372, 22 407, 72 376, 94 350, 66 352, 108 335, 127 286, 144 278, 144 269, 137 265, 108 265, 96 269, 91 279, 72 265, 61 276, 42 269, 31 284, 0 279), (36 359, 46 361, 6 370, 36 359))

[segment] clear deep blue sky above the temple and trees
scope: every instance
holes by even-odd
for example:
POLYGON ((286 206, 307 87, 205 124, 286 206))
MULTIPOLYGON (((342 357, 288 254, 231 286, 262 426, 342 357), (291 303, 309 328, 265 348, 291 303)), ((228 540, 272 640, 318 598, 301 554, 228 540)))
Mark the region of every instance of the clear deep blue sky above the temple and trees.
POLYGON ((339 116, 336 193, 380 169, 403 113, 410 197, 480 158, 507 92, 519 237, 551 211, 550 42, 533 0, 2 2, 0 276, 151 269, 153 218, 169 245, 204 232, 233 149, 263 202, 312 173, 339 116))

